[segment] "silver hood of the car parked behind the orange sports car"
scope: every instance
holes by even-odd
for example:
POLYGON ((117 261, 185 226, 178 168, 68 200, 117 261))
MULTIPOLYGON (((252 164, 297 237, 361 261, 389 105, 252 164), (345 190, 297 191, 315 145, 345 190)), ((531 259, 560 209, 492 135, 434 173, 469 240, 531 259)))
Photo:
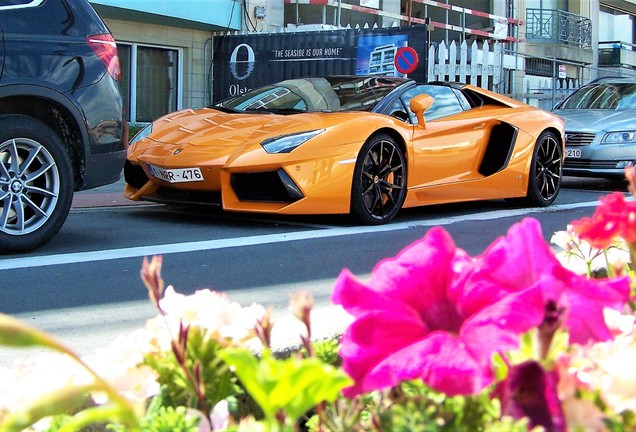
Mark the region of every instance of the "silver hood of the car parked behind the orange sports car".
POLYGON ((636 129, 636 111, 610 110, 554 110, 565 120, 566 131, 607 132, 636 129))

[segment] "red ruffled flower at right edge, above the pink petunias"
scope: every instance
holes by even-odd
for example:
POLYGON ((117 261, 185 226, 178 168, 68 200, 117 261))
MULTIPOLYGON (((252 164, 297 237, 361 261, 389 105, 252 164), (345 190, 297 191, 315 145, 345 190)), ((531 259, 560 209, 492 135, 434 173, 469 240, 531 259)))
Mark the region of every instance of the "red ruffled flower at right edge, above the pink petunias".
POLYGON ((635 242, 636 201, 627 201, 620 192, 601 197, 594 215, 572 221, 572 228, 598 249, 611 246, 616 236, 635 242))

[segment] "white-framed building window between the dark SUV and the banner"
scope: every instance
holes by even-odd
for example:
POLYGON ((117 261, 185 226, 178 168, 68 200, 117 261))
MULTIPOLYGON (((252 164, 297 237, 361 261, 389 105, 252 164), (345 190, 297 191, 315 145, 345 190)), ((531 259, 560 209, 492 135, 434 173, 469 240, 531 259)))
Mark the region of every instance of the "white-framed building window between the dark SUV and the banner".
POLYGON ((122 43, 117 47, 128 121, 150 122, 181 108, 179 49, 122 43))

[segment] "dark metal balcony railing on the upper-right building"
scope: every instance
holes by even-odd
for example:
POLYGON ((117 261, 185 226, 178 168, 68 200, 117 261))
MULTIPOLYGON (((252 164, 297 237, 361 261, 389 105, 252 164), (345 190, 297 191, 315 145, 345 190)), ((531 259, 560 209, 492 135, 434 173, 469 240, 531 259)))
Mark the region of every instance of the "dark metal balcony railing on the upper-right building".
POLYGON ((526 9, 526 39, 589 48, 592 20, 556 9, 526 9))

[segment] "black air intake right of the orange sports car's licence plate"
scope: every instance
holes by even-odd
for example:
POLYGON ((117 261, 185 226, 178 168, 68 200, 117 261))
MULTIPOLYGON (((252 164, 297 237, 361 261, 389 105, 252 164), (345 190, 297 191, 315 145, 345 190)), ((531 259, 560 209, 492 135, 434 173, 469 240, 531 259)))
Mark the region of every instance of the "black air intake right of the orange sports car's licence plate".
POLYGON ((304 195, 285 170, 232 174, 234 193, 241 201, 291 203, 304 195))

